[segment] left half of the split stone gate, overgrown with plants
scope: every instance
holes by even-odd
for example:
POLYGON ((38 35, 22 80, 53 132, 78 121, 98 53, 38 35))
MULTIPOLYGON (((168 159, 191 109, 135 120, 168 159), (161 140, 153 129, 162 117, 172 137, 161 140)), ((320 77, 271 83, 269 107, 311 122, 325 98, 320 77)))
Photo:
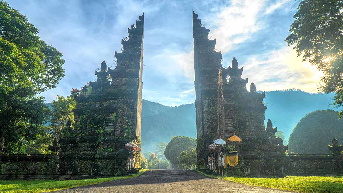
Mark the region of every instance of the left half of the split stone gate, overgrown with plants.
POLYGON ((121 52, 115 52, 117 65, 105 61, 95 71, 76 100, 74 123, 67 124, 63 137, 51 149, 58 152, 59 170, 71 175, 114 175, 125 166, 125 144, 135 140, 136 167, 141 164, 141 114, 143 73, 144 13, 121 39, 121 52))

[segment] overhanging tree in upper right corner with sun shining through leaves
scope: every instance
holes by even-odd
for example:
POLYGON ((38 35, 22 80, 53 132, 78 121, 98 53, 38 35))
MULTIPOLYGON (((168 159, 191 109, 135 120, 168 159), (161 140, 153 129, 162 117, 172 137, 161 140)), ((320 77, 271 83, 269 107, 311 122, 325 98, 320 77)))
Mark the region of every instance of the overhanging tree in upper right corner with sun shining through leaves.
POLYGON ((335 92, 334 104, 342 106, 343 1, 300 0, 294 18, 285 41, 304 61, 324 72, 320 90, 335 92))

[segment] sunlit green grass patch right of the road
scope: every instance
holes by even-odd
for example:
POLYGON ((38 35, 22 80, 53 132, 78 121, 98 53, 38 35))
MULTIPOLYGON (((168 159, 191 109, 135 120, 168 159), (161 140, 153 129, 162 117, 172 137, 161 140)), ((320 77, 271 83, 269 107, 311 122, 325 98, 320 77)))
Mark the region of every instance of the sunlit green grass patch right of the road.
POLYGON ((342 193, 343 177, 287 176, 284 178, 224 177, 223 180, 280 190, 305 193, 342 193))

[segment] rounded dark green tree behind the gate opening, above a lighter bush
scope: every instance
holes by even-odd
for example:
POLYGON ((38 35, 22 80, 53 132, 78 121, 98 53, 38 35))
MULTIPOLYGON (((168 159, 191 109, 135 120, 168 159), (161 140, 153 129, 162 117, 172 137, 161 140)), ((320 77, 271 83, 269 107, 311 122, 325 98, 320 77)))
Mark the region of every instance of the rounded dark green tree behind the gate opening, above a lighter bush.
POLYGON ((170 161, 174 169, 179 168, 179 159, 181 151, 188 150, 189 147, 195 148, 197 146, 197 139, 186 136, 176 136, 172 138, 164 151, 164 155, 170 161))

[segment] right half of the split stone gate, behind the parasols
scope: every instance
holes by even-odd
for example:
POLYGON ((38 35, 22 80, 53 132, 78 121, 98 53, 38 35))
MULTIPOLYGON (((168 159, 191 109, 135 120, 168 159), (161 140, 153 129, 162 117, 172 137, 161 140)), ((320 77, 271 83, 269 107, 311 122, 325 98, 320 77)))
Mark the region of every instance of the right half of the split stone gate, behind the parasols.
POLYGON ((264 92, 258 93, 254 83, 247 90, 248 78, 241 78, 243 67, 238 68, 236 58, 230 67, 222 66, 222 54, 215 51, 216 39, 210 40, 209 32, 193 11, 197 167, 206 166, 207 147, 214 139, 232 135, 242 139, 241 155, 284 154, 287 146, 275 137, 277 128, 270 120, 267 129, 264 125, 264 92))

